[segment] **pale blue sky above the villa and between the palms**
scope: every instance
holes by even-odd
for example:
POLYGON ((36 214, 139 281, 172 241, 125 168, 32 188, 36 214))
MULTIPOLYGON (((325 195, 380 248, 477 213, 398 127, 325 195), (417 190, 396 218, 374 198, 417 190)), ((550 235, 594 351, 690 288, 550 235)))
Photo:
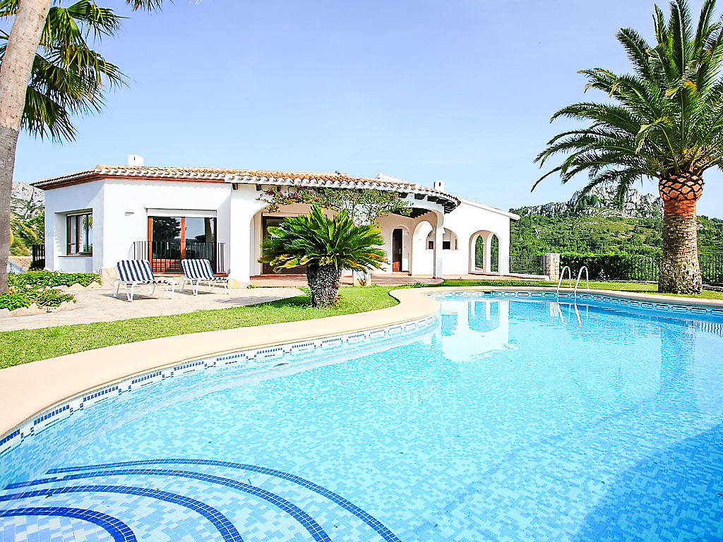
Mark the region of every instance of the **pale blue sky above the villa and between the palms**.
MULTIPOLYGON (((120 0, 100 4, 122 7, 120 0)), ((661 3, 667 12, 667 4, 661 3)), ((701 0, 691 1, 695 12, 701 0)), ((99 46, 129 86, 76 142, 22 137, 16 181, 96 164, 383 172, 496 207, 566 200, 533 163, 583 98, 579 69, 628 71, 620 27, 648 0, 176 0, 99 46)), ((121 8, 122 9, 122 8, 121 8)), ((723 4, 719 11, 723 10, 723 4)), ((723 216, 709 171, 698 212, 723 216)), ((643 186, 655 192, 650 181, 643 186)))

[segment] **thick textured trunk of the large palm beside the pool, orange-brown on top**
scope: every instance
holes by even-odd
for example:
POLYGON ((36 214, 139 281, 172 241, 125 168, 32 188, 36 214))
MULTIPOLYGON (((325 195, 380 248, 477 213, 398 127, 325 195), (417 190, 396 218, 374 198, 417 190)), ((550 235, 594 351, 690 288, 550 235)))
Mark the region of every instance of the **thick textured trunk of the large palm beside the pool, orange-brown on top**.
POLYGON ((663 257, 658 291, 702 293, 698 262, 698 213, 696 202, 703 193, 703 178, 689 173, 660 179, 663 199, 663 257))

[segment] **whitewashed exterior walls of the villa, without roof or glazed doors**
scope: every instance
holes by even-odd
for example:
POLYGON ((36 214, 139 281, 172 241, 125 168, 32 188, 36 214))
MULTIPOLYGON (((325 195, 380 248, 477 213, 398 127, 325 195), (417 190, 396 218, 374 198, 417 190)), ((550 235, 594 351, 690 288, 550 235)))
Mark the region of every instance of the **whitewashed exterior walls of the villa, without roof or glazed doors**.
MULTIPOLYGON (((217 219, 217 241, 224 244, 224 267, 242 283, 259 275, 262 216, 293 216, 309 212, 308 205, 290 205, 267 212, 257 201, 259 192, 249 184, 193 181, 148 181, 106 178, 46 191, 46 266, 66 272, 98 272, 132 257, 135 241, 147 240, 149 210, 193 211, 217 219), (93 256, 67 256, 66 215, 93 212, 93 256)), ((500 241, 500 273, 509 271, 510 213, 462 200, 445 215, 442 207, 426 199, 407 197, 416 208, 429 210, 419 218, 386 215, 379 220, 392 272, 392 232, 402 229, 402 267, 411 275, 466 275, 474 270, 474 240, 482 235, 489 246, 494 233, 500 241), (442 249, 442 239, 453 238, 452 249, 442 249), (428 238, 435 241, 428 248, 428 238), (456 239, 456 244, 454 242, 456 239)), ((489 252, 489 251, 488 251, 489 252)), ((489 262, 489 254, 487 256, 489 262)), ((489 265, 486 266, 489 270, 489 265)))

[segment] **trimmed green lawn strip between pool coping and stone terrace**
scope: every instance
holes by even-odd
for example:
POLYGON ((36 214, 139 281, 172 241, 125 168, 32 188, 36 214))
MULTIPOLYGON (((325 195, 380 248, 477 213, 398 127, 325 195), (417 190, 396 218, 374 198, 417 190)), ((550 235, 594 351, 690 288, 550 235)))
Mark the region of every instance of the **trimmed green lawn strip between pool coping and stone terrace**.
MULTIPOLYGON (((557 286, 557 283, 531 280, 445 280, 440 286, 557 286)), ((592 288, 655 293, 656 285, 638 283, 590 283, 592 288)), ((30 361, 92 350, 138 340, 183 335, 212 330, 229 330, 278 322, 298 322, 315 318, 384 309, 396 304, 389 292, 395 288, 341 289, 341 301, 333 309, 312 309, 308 296, 299 296, 234 309, 197 311, 174 316, 137 318, 118 322, 97 322, 39 330, 0 333, 0 369, 30 361)), ((700 297, 700 296, 690 296, 700 297)), ((703 298, 723 299, 723 293, 706 291, 703 298)))

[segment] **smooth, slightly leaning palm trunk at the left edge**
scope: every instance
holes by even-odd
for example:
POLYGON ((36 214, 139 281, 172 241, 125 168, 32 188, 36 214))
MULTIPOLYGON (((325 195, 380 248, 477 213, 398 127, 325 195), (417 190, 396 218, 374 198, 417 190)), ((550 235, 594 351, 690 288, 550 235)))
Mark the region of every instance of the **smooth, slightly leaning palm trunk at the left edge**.
POLYGON ((0 293, 7 291, 10 252, 10 195, 15 147, 33 69, 51 0, 20 0, 0 69, 0 293))

